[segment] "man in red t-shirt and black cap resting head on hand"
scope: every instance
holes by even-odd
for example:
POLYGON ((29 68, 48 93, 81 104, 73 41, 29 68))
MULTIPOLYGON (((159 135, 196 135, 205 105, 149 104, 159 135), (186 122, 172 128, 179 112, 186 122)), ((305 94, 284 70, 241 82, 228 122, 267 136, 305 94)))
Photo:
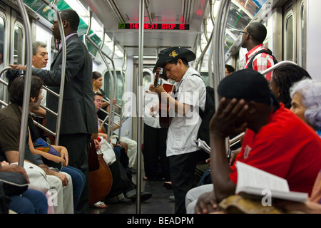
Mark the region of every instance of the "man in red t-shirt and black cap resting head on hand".
POLYGON ((225 138, 245 129, 236 161, 285 178, 292 191, 310 194, 321 169, 320 137, 278 103, 256 71, 245 69, 224 78, 218 95, 220 104, 210 122, 210 170, 215 187, 198 198, 195 211, 211 212, 216 202, 235 195, 237 170, 228 164, 225 138))

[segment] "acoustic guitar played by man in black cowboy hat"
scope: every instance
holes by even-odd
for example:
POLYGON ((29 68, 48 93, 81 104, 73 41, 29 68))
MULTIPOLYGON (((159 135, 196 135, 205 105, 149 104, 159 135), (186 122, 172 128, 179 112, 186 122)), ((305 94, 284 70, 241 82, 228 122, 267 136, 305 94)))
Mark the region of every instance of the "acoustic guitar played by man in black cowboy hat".
MULTIPOLYGON (((155 80, 154 80, 154 87, 161 86, 163 84, 163 88, 166 91, 166 93, 172 93, 175 91, 175 86, 170 84, 162 83, 161 79, 159 78, 159 73, 161 72, 161 68, 157 68, 155 80)), ((170 106, 167 102, 164 102, 161 100, 161 96, 159 98, 159 125, 161 125, 162 128, 169 128, 170 126, 170 115, 169 115, 169 109, 170 106)))

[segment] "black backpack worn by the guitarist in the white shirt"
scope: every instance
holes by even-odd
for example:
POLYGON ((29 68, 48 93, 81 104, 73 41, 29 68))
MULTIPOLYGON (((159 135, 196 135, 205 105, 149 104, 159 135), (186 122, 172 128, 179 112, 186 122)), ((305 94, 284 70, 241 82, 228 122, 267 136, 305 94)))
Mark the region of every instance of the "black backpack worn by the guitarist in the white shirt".
POLYGON ((205 108, 204 111, 200 109, 200 118, 202 118, 202 123, 200 124, 200 129, 198 130, 198 138, 205 141, 208 145, 210 145, 210 119, 212 119, 214 113, 214 88, 206 86, 205 108))

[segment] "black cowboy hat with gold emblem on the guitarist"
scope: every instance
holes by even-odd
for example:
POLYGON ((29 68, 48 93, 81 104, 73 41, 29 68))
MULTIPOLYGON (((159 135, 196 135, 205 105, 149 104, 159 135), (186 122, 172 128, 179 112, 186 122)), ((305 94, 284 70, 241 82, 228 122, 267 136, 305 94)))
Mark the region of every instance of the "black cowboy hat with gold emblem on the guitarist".
POLYGON ((156 69, 158 67, 163 68, 163 66, 165 66, 166 63, 179 58, 185 59, 186 61, 190 62, 193 61, 196 58, 196 56, 195 53, 193 53, 193 51, 190 51, 186 48, 166 48, 160 53, 158 53, 158 61, 156 62, 156 66, 153 68, 153 73, 156 72, 156 69))

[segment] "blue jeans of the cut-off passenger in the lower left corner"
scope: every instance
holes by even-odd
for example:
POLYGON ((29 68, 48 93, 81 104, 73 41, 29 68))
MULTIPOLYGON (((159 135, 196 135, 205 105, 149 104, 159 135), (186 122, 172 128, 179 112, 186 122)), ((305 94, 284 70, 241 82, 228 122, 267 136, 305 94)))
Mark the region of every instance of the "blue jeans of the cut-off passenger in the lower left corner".
POLYGON ((18 214, 47 214, 48 203, 44 193, 28 189, 22 195, 10 197, 9 208, 18 214))

